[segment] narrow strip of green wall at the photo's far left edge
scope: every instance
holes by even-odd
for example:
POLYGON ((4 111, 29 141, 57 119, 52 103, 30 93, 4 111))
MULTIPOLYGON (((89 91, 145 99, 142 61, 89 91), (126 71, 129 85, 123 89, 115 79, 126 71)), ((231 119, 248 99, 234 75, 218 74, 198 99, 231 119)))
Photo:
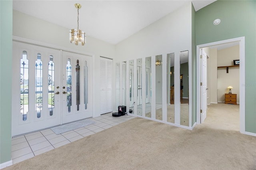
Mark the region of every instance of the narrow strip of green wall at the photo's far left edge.
POLYGON ((12 0, 0 0, 0 164, 11 160, 12 0))

